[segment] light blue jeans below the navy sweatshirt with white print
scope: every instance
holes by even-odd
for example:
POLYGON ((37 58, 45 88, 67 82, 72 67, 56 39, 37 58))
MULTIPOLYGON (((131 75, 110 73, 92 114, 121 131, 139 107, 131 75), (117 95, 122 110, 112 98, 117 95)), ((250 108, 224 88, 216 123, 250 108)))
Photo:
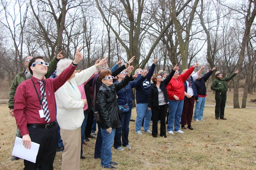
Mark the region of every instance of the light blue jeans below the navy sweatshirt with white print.
POLYGON ((136 128, 135 131, 141 130, 142 120, 144 118, 144 131, 147 131, 150 127, 151 121, 151 110, 148 110, 148 103, 139 103, 136 106, 137 117, 136 117, 136 128))

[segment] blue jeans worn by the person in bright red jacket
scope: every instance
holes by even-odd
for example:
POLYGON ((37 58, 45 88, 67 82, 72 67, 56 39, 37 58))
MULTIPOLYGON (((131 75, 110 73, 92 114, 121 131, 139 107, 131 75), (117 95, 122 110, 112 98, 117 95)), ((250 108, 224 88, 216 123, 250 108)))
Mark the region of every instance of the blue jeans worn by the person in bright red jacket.
POLYGON ((169 117, 168 117, 168 125, 167 125, 168 131, 173 131, 173 122, 174 122, 174 131, 180 130, 180 119, 182 115, 183 103, 184 103, 184 100, 182 101, 169 100, 169 117))

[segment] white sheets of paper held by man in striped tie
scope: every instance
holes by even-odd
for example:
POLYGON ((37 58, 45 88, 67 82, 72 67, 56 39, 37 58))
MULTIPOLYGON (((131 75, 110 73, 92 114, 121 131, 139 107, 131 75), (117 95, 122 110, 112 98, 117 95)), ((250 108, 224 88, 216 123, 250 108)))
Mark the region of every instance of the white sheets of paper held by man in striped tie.
POLYGON ((13 153, 11 155, 17 156, 21 159, 25 159, 27 161, 35 163, 37 159, 37 153, 39 150, 40 144, 31 142, 31 148, 27 149, 23 146, 23 141, 21 138, 15 138, 15 144, 13 147, 13 153))

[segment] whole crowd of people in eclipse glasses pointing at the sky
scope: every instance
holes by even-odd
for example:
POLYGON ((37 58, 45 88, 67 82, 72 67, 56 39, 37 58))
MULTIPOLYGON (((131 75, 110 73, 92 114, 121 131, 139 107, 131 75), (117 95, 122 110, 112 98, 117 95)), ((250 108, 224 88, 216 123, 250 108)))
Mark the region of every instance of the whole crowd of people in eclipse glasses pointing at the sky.
MULTIPOLYGON (((132 76, 134 56, 122 66, 120 60, 111 69, 103 58, 94 66, 76 71, 83 59, 80 49, 74 60, 63 59, 62 51, 50 63, 42 57, 27 57, 26 69, 13 80, 8 104, 17 122, 16 136, 22 138, 27 149, 31 142, 40 144, 36 162, 24 160, 24 170, 53 170, 57 147, 63 151, 61 170, 79 170, 80 159, 85 159, 83 142, 87 136, 96 135, 96 124, 94 158, 100 159, 102 167, 115 169, 118 163, 111 160, 112 146, 117 150, 132 149, 128 137, 134 99, 138 135, 143 134, 143 126, 143 132, 158 137, 160 121, 160 136, 166 138, 166 115, 169 134, 184 133, 186 128, 194 130, 191 122, 195 103, 195 121, 204 120, 205 82, 216 67, 202 75, 204 65, 194 72, 199 66, 196 63, 180 74, 176 64, 169 75, 163 70, 154 74, 158 62, 155 58, 149 70, 138 68, 132 76), (52 73, 56 76, 51 79, 52 73)), ((238 70, 226 78, 220 71, 215 73, 211 89, 216 91, 216 120, 226 120, 226 82, 237 73, 238 70)))

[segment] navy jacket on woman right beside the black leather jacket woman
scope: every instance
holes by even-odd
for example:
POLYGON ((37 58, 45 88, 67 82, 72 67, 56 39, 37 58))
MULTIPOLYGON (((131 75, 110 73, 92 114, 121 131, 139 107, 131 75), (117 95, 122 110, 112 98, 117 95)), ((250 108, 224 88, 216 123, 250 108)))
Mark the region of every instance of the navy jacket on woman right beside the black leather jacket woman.
MULTIPOLYGON (((117 91, 117 102, 118 105, 123 106, 126 103, 128 103, 129 109, 131 110, 133 107, 132 103, 132 88, 135 88, 139 86, 143 82, 145 77, 140 76, 139 78, 135 79, 134 81, 130 81, 124 88, 117 91)), ((118 83, 119 81, 116 81, 115 83, 118 83)))

